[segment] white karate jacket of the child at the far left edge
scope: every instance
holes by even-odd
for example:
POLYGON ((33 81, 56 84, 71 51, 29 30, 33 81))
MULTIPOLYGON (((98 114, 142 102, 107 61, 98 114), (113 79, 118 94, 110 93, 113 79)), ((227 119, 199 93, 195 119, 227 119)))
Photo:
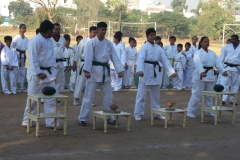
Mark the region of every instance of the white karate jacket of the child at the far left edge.
POLYGON ((5 66, 18 66, 17 52, 12 47, 5 46, 1 51, 2 70, 6 70, 5 66))

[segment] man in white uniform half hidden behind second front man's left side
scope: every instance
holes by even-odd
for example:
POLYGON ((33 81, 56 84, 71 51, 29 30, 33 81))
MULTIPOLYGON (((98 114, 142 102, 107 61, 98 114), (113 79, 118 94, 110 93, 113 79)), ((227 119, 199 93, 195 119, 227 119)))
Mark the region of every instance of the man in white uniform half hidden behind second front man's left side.
POLYGON ((77 74, 77 80, 76 80, 75 90, 73 94, 73 97, 74 97, 73 105, 75 106, 80 105, 79 98, 82 95, 83 87, 86 85, 86 77, 83 72, 85 54, 87 54, 85 53, 86 45, 90 39, 96 36, 97 34, 96 30, 97 30, 97 27, 95 26, 91 26, 89 28, 89 37, 83 38, 81 40, 81 42, 78 44, 78 51, 73 57, 73 71, 75 71, 77 74), (77 67, 78 61, 79 63, 77 67))

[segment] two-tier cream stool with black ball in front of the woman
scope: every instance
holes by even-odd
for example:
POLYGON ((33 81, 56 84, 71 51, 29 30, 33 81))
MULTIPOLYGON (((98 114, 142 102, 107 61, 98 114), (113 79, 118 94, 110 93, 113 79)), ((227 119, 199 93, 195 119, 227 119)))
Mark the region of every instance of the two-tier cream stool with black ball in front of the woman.
POLYGON ((237 94, 233 92, 214 92, 214 91, 203 91, 202 92, 202 107, 201 107, 201 122, 203 122, 204 112, 209 112, 215 114, 214 125, 217 125, 217 121, 221 121, 222 111, 232 112, 232 124, 235 121, 235 103, 236 103, 237 94), (229 95, 233 96, 233 105, 232 107, 222 106, 222 96, 229 95), (212 107, 204 106, 205 96, 211 96, 215 98, 215 104, 212 107))

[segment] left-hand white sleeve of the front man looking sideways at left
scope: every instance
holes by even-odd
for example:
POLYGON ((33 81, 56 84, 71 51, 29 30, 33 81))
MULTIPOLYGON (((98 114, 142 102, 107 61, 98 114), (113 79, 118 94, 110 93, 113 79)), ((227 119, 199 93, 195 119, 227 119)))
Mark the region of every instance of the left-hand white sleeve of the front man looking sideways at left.
MULTIPOLYGON (((40 50, 40 46, 38 44, 39 42, 36 41, 36 39, 31 40, 29 46, 28 46, 28 60, 30 65, 33 65, 33 68, 35 70, 36 74, 42 73, 39 62, 38 62, 38 51, 40 50)), ((52 52, 53 53, 53 52, 52 52)), ((54 56, 53 56, 54 58, 54 56)), ((55 62, 56 64, 56 62, 55 62)))

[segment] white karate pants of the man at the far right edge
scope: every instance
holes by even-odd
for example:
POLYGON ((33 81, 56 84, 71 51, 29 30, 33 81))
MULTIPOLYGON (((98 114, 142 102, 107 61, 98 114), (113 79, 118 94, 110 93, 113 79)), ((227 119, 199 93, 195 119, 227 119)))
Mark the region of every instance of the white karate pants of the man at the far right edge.
MULTIPOLYGON (((225 92, 238 93, 239 89, 239 72, 238 71, 227 71, 228 76, 221 76, 221 84, 224 86, 225 92), (230 88, 230 89, 229 89, 230 88)), ((227 95, 223 95, 222 101, 227 102, 227 95)), ((229 97, 229 101, 233 102, 233 97, 229 97)))

